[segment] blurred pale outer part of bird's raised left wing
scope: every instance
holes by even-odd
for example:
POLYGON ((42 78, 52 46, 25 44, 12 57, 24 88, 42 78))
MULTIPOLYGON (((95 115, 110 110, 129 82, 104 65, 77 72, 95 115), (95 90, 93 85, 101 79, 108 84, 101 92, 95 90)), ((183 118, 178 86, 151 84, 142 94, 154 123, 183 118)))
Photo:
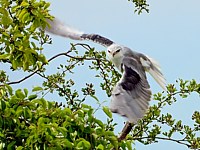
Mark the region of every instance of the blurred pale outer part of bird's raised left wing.
POLYGON ((47 22, 50 25, 49 27, 47 26, 45 28, 47 32, 55 34, 55 35, 67 37, 73 40, 83 40, 81 38, 83 32, 78 31, 70 26, 67 26, 66 24, 58 20, 57 18, 54 18, 53 20, 48 19, 47 22))

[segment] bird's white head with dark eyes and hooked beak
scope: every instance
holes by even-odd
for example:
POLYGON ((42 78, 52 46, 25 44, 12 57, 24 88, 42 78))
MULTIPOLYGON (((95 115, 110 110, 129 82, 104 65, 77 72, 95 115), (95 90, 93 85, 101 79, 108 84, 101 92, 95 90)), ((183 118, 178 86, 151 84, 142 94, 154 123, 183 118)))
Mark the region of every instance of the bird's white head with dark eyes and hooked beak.
POLYGON ((123 57, 123 47, 118 44, 108 46, 107 56, 111 61, 121 59, 123 57))

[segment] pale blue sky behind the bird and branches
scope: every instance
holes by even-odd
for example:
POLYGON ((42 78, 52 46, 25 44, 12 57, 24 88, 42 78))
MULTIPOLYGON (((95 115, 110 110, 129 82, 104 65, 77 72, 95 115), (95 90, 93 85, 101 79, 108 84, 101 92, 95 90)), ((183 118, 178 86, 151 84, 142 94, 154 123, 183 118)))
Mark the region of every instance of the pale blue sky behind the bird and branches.
MULTIPOLYGON (((85 33, 98 33, 156 59, 160 63, 168 83, 175 83, 178 78, 185 80, 194 78, 198 82, 200 81, 200 1, 149 0, 150 13, 144 12, 141 15, 134 13, 134 6, 128 0, 48 1, 51 2, 52 15, 67 24, 85 33)), ((48 58, 64 52, 69 48, 70 42, 76 43, 69 39, 52 37, 53 45, 48 46, 45 50, 48 58)), ((104 47, 97 44, 86 43, 99 50, 104 50, 104 47)), ((66 61, 59 59, 53 63, 66 63, 66 61)), ((56 68, 49 72, 56 72, 56 68)), ((78 73, 84 74, 84 67, 80 68, 78 73)), ((85 78, 89 82, 98 82, 88 79, 90 75, 92 74, 85 74, 78 79, 78 86, 83 85, 82 80, 85 81, 85 78)), ((78 74, 74 75, 74 78, 79 77, 78 74)), ((11 75, 11 79, 17 78, 20 76, 12 77, 11 75)), ((27 81, 25 86, 32 87, 40 82, 36 76, 33 80, 27 81)), ((161 91, 151 77, 149 77, 149 82, 153 93, 161 91)), ((19 86, 24 88, 23 84, 19 86)), ((97 91, 97 94, 102 95, 101 93, 102 91, 97 91)), ((109 100, 105 94, 100 99, 109 100)), ((179 99, 176 104, 166 107, 163 112, 172 113, 174 118, 192 124, 190 118, 194 110, 200 110, 200 101, 197 95, 185 100, 179 99)), ((116 132, 120 132, 123 124, 121 123, 122 118, 115 115, 115 121, 120 124, 116 132)), ((135 147, 139 150, 187 149, 172 142, 159 142, 148 146, 136 143, 135 147)))

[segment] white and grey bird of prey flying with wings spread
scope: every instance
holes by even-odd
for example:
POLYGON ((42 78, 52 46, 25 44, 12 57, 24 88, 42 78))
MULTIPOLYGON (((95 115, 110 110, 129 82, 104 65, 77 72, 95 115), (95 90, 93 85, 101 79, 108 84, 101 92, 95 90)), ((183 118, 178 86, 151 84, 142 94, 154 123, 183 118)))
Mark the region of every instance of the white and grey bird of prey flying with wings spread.
POLYGON ((120 80, 113 87, 110 110, 126 117, 128 122, 136 124, 148 110, 152 92, 146 72, 163 90, 166 90, 166 80, 160 66, 151 57, 133 51, 99 34, 80 32, 57 18, 47 20, 47 22, 50 25, 45 28, 47 32, 73 40, 90 40, 107 48, 108 59, 122 74, 120 80))

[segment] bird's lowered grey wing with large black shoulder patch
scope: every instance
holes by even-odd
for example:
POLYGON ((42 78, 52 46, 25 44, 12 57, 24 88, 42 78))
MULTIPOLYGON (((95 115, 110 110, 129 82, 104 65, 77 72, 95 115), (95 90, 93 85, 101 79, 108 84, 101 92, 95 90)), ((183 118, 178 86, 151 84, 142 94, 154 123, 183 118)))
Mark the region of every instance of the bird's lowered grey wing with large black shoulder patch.
POLYGON ((125 57, 123 75, 112 91, 110 109, 136 123, 148 109, 151 98, 145 70, 139 60, 125 57))

